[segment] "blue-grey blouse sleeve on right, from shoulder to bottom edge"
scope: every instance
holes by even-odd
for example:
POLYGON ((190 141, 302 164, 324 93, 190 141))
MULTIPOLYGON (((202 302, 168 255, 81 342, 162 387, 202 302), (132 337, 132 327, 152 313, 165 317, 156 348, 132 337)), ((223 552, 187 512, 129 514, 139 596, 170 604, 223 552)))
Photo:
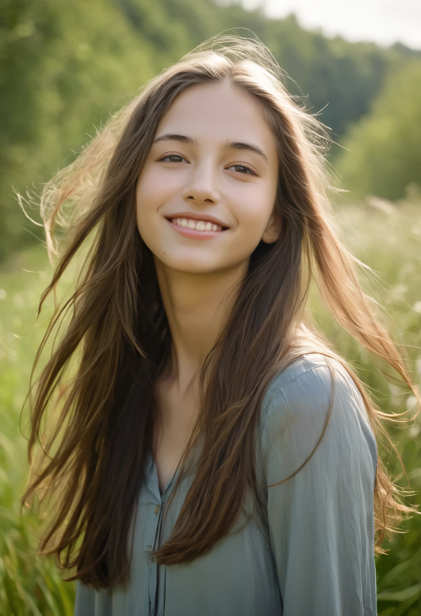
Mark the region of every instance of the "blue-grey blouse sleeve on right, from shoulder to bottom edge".
MULTIPOLYGON (((323 439, 294 477, 267 488, 284 616, 376 614, 377 447, 358 389, 338 362, 332 366, 334 400, 323 439)), ((332 375, 321 355, 295 362, 270 388, 262 433, 268 486, 310 455, 331 395, 332 375)))

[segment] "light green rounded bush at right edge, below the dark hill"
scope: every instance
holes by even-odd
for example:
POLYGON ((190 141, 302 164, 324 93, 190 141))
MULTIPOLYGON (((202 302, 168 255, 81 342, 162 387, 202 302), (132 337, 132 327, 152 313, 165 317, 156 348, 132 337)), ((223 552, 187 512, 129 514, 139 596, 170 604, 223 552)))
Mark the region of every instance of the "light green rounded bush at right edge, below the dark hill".
POLYGON ((397 199, 410 182, 421 184, 421 62, 395 71, 371 113, 350 129, 337 162, 351 195, 397 199))

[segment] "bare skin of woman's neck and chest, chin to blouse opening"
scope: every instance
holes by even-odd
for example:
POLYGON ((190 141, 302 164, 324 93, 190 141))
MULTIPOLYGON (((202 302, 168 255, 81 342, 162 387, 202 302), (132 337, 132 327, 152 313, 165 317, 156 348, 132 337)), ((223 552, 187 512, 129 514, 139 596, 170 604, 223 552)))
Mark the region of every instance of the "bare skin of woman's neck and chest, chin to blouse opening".
POLYGON ((156 262, 162 301, 172 336, 170 363, 156 383, 159 421, 154 426, 153 456, 159 488, 177 468, 197 412, 199 373, 229 314, 236 293, 231 291, 245 272, 227 270, 225 278, 206 280, 170 272, 156 262), (178 274, 178 275, 177 275, 178 274), (224 283, 223 286, 221 283, 224 283), (225 297, 226 295, 226 297, 225 297))

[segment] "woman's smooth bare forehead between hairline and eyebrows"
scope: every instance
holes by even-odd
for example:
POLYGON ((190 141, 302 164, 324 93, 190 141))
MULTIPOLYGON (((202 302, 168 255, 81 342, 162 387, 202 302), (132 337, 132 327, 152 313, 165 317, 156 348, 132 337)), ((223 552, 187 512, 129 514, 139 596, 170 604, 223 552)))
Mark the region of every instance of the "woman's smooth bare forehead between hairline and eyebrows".
POLYGON ((156 131, 201 141, 250 141, 275 153, 275 139, 248 92, 229 81, 192 86, 174 100, 156 131))

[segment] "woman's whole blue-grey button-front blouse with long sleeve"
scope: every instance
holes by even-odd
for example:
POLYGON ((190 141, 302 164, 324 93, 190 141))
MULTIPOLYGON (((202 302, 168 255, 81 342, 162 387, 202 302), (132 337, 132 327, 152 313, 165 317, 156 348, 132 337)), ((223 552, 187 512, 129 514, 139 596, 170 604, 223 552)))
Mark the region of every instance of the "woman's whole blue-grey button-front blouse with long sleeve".
MULTIPOLYGON (((234 529, 209 553, 186 564, 156 565, 147 552, 169 537, 191 476, 182 478, 163 523, 176 476, 161 495, 150 457, 129 583, 100 592, 78 584, 75 616, 375 615, 377 447, 355 383, 331 362, 334 404, 326 433, 294 477, 263 489, 263 517, 253 514, 248 499, 234 529)), ((322 355, 304 355, 276 375, 262 402, 257 439, 262 486, 289 476, 307 458, 323 431, 331 394, 322 355)))

